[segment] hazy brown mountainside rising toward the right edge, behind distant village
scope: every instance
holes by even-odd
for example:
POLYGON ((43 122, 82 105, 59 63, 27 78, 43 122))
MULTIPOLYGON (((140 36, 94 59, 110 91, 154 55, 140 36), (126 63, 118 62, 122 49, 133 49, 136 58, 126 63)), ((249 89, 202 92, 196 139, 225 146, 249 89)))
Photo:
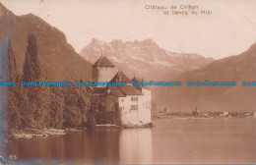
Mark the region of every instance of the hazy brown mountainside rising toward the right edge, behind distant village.
POLYGON ((160 86, 153 94, 159 110, 194 111, 256 111, 256 43, 240 55, 216 60, 176 78, 181 86, 160 86), (234 86, 187 86, 191 82, 235 82, 234 86))

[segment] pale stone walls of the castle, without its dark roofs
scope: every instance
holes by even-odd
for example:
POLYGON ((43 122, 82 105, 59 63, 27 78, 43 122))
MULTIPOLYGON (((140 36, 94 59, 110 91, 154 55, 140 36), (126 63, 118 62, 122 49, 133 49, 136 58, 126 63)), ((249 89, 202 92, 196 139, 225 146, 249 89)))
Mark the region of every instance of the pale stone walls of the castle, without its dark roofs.
MULTIPOLYGON (((94 81, 104 83, 110 82, 118 73, 116 67, 93 68, 94 81)), ((103 87, 103 86, 102 86, 103 87)), ((104 112, 114 112, 115 105, 121 110, 121 122, 128 127, 143 126, 151 123, 151 90, 142 88, 143 95, 127 95, 115 97, 105 95, 101 98, 104 112), (116 104, 118 102, 118 104, 116 104)))

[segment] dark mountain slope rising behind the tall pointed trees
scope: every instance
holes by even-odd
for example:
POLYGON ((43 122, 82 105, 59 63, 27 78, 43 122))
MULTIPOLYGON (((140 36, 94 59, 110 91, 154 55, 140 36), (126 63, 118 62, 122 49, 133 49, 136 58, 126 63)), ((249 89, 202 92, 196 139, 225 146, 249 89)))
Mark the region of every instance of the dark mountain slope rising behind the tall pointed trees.
POLYGON ((37 40, 43 78, 49 81, 92 79, 92 64, 75 52, 63 32, 32 14, 18 17, 0 3, 0 38, 10 38, 20 74, 31 33, 37 40))

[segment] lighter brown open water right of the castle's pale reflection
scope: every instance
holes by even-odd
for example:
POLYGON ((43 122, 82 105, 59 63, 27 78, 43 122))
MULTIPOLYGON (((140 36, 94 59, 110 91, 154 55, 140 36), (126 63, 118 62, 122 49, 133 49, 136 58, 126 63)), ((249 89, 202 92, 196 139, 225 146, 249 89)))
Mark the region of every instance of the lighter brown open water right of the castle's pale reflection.
POLYGON ((157 126, 153 129, 153 163, 256 162, 256 118, 160 120, 157 126))

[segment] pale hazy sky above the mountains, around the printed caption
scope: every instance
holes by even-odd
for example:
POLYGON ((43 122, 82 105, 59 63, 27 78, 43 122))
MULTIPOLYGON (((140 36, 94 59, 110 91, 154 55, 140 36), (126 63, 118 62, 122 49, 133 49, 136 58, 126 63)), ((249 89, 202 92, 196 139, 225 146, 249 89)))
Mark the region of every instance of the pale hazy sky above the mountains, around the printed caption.
MULTIPOLYGON (((256 0, 0 0, 16 15, 32 13, 62 30, 79 53, 92 38, 152 38, 173 52, 223 58, 256 42, 256 0), (145 5, 197 5, 212 15, 165 16, 145 5)), ((177 9, 179 10, 179 9, 177 9)), ((171 10, 169 10, 171 11, 171 10)), ((179 10, 180 11, 180 10, 179 10)), ((186 10, 190 12, 190 10, 186 10)))

